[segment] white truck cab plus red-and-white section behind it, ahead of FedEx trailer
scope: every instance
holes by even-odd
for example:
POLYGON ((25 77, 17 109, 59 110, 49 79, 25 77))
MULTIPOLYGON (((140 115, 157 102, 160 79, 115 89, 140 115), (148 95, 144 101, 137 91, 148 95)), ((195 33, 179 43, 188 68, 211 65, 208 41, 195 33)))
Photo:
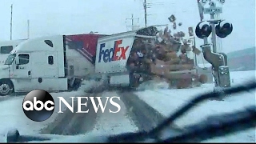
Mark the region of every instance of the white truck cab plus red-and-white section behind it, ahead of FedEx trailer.
POLYGON ((78 90, 82 80, 94 74, 97 42, 103 36, 54 35, 21 42, 0 66, 0 95, 78 90))

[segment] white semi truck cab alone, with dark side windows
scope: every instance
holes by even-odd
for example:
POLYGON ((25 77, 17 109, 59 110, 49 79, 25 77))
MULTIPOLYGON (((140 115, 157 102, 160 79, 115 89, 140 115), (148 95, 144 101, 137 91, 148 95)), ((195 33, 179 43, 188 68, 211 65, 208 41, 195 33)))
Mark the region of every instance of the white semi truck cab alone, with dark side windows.
POLYGON ((1 66, 0 94, 9 94, 12 89, 22 92, 38 87, 44 90, 66 90, 62 47, 61 35, 21 42, 1 66))

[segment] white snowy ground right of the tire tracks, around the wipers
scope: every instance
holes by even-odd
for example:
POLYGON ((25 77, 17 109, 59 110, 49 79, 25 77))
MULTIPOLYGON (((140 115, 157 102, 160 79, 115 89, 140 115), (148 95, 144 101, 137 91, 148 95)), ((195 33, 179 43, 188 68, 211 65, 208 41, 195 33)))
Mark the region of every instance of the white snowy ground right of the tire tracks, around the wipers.
MULTIPOLYGON (((238 85, 248 80, 255 81, 255 71, 238 71, 230 72, 231 85, 238 85)), ((137 92, 138 97, 147 102, 165 116, 169 116, 175 110, 186 102, 190 102, 191 98, 198 96, 204 92, 213 90, 214 84, 204 84, 193 89, 168 90, 165 82, 150 84, 147 90, 137 92), (159 89, 160 88, 160 89, 159 89)), ((227 113, 239 110, 245 106, 255 105, 255 90, 243 94, 235 94, 226 98, 224 101, 204 102, 182 118, 176 121, 178 126, 185 126, 199 122, 202 118, 206 118, 211 114, 227 113)), ((207 142, 255 142, 255 129, 246 130, 245 132, 233 134, 227 137, 214 138, 207 142)))

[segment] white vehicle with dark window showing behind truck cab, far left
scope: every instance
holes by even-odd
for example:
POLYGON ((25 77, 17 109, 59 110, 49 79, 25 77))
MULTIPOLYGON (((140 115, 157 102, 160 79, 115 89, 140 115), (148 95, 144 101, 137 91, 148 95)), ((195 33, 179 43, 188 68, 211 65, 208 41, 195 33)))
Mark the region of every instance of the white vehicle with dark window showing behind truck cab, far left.
POLYGON ((0 66, 4 65, 6 58, 10 54, 11 50, 14 50, 15 46, 25 41, 26 39, 16 39, 9 41, 0 41, 0 66))

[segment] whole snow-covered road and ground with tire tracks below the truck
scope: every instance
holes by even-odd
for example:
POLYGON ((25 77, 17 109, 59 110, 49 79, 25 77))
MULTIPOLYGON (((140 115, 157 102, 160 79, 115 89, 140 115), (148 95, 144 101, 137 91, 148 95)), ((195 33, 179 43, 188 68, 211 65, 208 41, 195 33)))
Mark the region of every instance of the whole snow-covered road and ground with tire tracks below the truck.
MULTIPOLYGON (((255 71, 231 72, 232 85, 245 82, 248 78, 255 79, 255 71)), ((6 142, 4 136, 6 131, 12 127, 17 128, 21 134, 39 134, 41 132, 44 134, 83 134, 88 131, 93 134, 119 134, 136 130, 149 130, 152 126, 156 126, 158 122, 162 121, 164 117, 177 110, 182 104, 189 102, 197 94, 213 90, 213 85, 211 84, 186 90, 167 90, 165 84, 160 85, 148 86, 148 90, 136 93, 105 91, 97 95, 88 95, 82 91, 85 89, 84 87, 76 92, 51 93, 54 101, 58 96, 102 96, 103 99, 120 96, 122 102, 119 102, 119 104, 122 110, 118 114, 102 114, 102 112, 98 112, 98 114, 82 115, 57 114, 57 109, 55 109, 54 115, 45 122, 33 122, 26 118, 22 111, 24 95, 1 97, 0 142, 6 142), (157 87, 158 89, 156 89, 157 87)), ((237 96, 226 98, 224 101, 209 101, 191 110, 189 114, 178 119, 175 124, 185 126, 199 122, 210 114, 238 110, 244 106, 255 105, 255 102, 255 91, 237 94, 237 96)), ((88 107, 90 108, 90 106, 88 107)), ((114 109, 114 107, 107 105, 106 110, 108 109, 114 109)), ((63 108, 63 110, 65 109, 63 108)), ((255 142, 255 129, 223 138, 214 138, 206 142, 255 142)))

